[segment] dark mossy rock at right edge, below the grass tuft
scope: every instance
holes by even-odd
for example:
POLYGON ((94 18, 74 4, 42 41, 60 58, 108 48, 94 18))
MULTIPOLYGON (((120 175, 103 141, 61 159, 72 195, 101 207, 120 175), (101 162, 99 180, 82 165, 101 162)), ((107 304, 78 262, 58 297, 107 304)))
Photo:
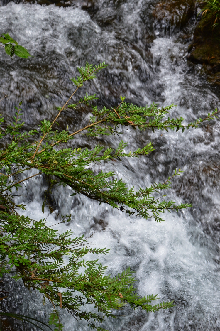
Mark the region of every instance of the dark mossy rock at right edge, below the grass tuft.
POLYGON ((197 25, 188 51, 192 62, 208 65, 213 73, 220 72, 220 29, 212 28, 210 14, 203 16, 197 25))

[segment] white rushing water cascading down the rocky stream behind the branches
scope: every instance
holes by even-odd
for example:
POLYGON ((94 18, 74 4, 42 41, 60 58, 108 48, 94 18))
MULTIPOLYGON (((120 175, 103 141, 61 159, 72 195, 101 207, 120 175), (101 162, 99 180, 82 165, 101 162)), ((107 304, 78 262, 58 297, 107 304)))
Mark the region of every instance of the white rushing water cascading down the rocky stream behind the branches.
MULTIPOLYGON (((52 118, 72 91, 69 78, 76 74, 76 66, 104 60, 109 67, 85 87, 88 93, 97 93, 99 105, 111 106, 120 95, 139 105, 174 103, 171 116, 182 115, 187 121, 214 110, 219 106, 218 88, 207 83, 201 65, 187 61, 195 14, 185 27, 173 28, 167 21, 154 20, 154 4, 97 0, 73 1, 65 8, 14 2, 0 7, 0 31, 9 32, 34 56, 12 61, 1 52, 0 93, 8 94, 0 104, 1 113, 11 120, 14 105, 23 100, 26 125, 37 126, 38 120, 52 118)), ((73 130, 86 115, 85 109, 68 112, 61 127, 68 124, 73 130)), ((175 302, 176 307, 154 314, 126 308, 117 320, 104 323, 110 331, 220 330, 219 137, 218 121, 184 134, 124 130, 129 149, 153 141, 155 151, 137 160, 105 163, 104 169, 114 170, 135 187, 162 181, 176 167, 185 171, 174 181, 168 198, 190 202, 193 208, 165 214, 162 224, 129 218, 86 197, 70 197, 68 188, 54 192, 54 208, 72 214, 68 228, 76 235, 96 231, 93 243, 111 248, 101 261, 112 275, 130 266, 141 295, 154 293, 175 302)), ((72 142, 81 147, 94 143, 80 137, 72 142)), ((118 139, 100 143, 116 146, 118 139)), ((28 194, 23 191, 26 214, 32 218, 43 217, 45 185, 43 178, 33 179, 26 185, 28 194)), ((53 215, 48 221, 54 222, 53 215)), ((65 231, 66 225, 59 230, 65 231)), ((11 293, 8 309, 47 320, 49 307, 41 305, 39 296, 9 279, 5 286, 11 293)), ((87 330, 87 323, 76 323, 65 313, 63 322, 65 330, 87 330)))

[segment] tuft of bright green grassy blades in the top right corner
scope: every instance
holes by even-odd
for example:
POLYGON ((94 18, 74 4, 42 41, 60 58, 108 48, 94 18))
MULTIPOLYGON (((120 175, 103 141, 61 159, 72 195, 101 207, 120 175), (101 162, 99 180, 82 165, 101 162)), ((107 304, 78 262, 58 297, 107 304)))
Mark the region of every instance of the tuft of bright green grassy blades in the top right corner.
POLYGON ((213 28, 219 25, 220 0, 198 0, 198 2, 203 7, 199 13, 202 12, 202 16, 210 14, 210 23, 212 23, 213 28))

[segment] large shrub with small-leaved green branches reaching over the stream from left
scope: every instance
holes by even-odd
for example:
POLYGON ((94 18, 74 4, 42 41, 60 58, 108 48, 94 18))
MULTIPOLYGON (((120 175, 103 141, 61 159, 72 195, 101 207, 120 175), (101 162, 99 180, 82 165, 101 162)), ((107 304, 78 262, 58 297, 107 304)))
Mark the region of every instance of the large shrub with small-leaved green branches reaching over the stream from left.
MULTIPOLYGON (((102 165, 103 162, 112 159, 147 155, 154 150, 150 142, 133 152, 126 152, 128 144, 122 140, 116 150, 105 149, 100 145, 93 150, 81 149, 79 146, 72 149, 65 148, 65 144, 77 134, 85 134, 93 139, 100 135, 119 135, 118 129, 123 125, 141 131, 151 128, 153 131, 175 129, 177 132, 182 128, 183 132, 185 127, 197 128, 203 121, 213 119, 218 113, 216 109, 205 119, 200 118, 184 125, 182 117, 165 119, 173 105, 161 109, 155 104, 150 107, 138 107, 126 103, 125 98, 121 97, 117 107, 98 109, 91 105, 91 101, 96 99, 95 94, 86 94, 83 99, 70 104, 77 90, 86 81, 94 79, 97 72, 105 67, 106 64, 103 62, 95 67, 86 64, 85 68, 78 68, 79 76, 71 79, 75 86, 72 95, 63 107, 57 108, 58 113, 52 122, 46 119, 41 121, 40 138, 37 130, 23 130, 23 114, 20 108, 22 101, 15 107, 13 124, 6 124, 4 118, 0 118, 0 138, 7 137, 8 141, 7 146, 0 151, 0 276, 13 270, 12 278, 22 279, 28 289, 38 290, 42 294, 43 304, 46 299, 49 300, 54 308, 49 324, 54 324, 55 330, 63 329, 59 316, 60 308, 66 308, 76 319, 83 318, 88 322, 88 326, 101 331, 103 329, 96 326, 95 322, 102 322, 105 316, 116 317, 112 309, 121 309, 129 304, 134 309, 141 307, 147 312, 154 312, 173 307, 173 302, 153 306, 151 303, 158 299, 156 295, 141 298, 136 293, 134 273, 129 268, 117 276, 108 275, 107 267, 98 262, 97 256, 109 253, 109 249, 91 248, 88 238, 72 238, 71 230, 59 234, 47 225, 45 219, 37 221, 21 216, 19 211, 24 210, 25 206, 17 205, 15 202, 16 191, 21 184, 27 179, 44 174, 50 178, 50 187, 69 185, 72 188, 72 196, 83 194, 99 201, 100 204, 109 204, 129 216, 153 218, 161 222, 161 214, 166 210, 178 212, 191 206, 176 205, 173 201, 163 201, 153 196, 154 192, 168 189, 170 180, 180 174, 180 169, 175 170, 164 183, 154 183, 136 192, 134 187, 128 188, 121 179, 113 179, 112 171, 94 174, 92 170, 93 163, 102 165), (66 109, 74 111, 81 104, 85 104, 91 110, 87 125, 75 132, 69 132, 68 128, 53 128, 62 112, 66 109), (90 260, 89 254, 95 254, 95 259, 90 260), (85 304, 92 304, 96 311, 83 311, 85 304)), ((50 201, 45 194, 43 213, 46 206, 52 213, 50 201)), ((70 217, 71 215, 61 215, 59 222, 68 222, 70 217)))

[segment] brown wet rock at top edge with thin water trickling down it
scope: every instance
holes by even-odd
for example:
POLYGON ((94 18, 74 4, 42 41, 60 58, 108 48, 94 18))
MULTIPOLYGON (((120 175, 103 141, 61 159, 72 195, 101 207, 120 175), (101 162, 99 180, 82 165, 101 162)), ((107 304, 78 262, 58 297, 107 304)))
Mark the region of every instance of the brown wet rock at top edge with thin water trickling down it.
POLYGON ((195 12, 195 0, 162 0, 155 5, 153 16, 171 26, 183 27, 195 12))

